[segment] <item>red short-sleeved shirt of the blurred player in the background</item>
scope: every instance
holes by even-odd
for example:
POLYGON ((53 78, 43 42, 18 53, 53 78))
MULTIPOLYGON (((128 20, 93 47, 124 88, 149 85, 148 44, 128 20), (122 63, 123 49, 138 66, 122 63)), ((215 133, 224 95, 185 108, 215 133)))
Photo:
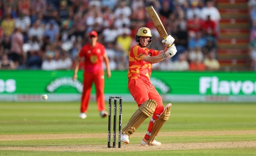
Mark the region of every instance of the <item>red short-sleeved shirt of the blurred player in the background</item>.
POLYGON ((89 43, 81 48, 78 57, 84 58, 84 71, 95 72, 103 70, 103 55, 106 53, 105 47, 96 43, 93 47, 89 43))

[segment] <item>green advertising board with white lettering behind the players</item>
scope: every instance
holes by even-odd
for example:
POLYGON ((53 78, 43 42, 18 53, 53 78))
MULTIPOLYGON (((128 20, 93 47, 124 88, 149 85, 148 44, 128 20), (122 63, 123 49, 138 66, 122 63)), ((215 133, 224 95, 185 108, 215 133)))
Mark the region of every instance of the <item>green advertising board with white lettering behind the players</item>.
MULTIPOLYGON (((83 71, 72 81, 73 71, 0 71, 1 101, 79 100, 83 90, 83 71)), ((112 71, 105 80, 106 96, 123 96, 132 101, 127 89, 127 71, 112 71)), ((152 83, 164 101, 256 101, 254 72, 174 72, 153 71, 152 83)), ((92 97, 95 89, 92 89, 92 97)))

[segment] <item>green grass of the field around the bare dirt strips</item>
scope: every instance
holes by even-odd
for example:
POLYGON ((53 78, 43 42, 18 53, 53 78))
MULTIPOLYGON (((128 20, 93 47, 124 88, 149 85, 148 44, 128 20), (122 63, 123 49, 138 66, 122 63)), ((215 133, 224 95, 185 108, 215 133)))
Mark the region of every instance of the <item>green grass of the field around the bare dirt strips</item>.
MULTIPOLYGON (((200 150, 156 150, 143 152, 48 152, 1 150, 1 147, 28 146, 84 146, 106 145, 106 138, 31 139, 1 141, 10 134, 93 134, 106 133, 108 118, 100 118, 97 106, 91 103, 88 118, 81 120, 79 102, 1 102, 0 103, 0 155, 256 155, 253 148, 218 148, 200 150)), ((123 103, 123 127, 137 109, 134 103, 123 103)), ((106 110, 108 108, 106 107, 106 110)), ((254 103, 173 103, 172 115, 161 132, 188 131, 248 131, 256 130, 256 104, 254 103)), ((148 120, 136 131, 145 132, 148 120)), ((133 137, 137 145, 143 136, 133 137)), ((213 143, 221 141, 256 141, 256 134, 157 136, 162 143, 213 143)))

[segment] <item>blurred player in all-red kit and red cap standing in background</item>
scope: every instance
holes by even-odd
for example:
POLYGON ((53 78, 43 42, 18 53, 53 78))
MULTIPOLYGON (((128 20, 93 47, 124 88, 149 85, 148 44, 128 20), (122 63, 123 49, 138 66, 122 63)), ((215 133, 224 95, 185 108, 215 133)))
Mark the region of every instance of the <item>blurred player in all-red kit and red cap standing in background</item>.
POLYGON ((77 80, 77 71, 82 59, 84 60, 84 75, 83 75, 83 93, 81 96, 81 113, 79 118, 86 118, 88 104, 90 101, 90 94, 92 84, 95 85, 97 108, 100 112, 100 117, 107 117, 108 113, 105 111, 105 97, 104 97, 104 68, 103 62, 106 64, 107 78, 110 78, 111 71, 109 67, 109 59, 106 54, 104 45, 100 44, 98 34, 92 31, 88 36, 89 43, 81 48, 78 53, 76 66, 74 69, 73 80, 77 80))

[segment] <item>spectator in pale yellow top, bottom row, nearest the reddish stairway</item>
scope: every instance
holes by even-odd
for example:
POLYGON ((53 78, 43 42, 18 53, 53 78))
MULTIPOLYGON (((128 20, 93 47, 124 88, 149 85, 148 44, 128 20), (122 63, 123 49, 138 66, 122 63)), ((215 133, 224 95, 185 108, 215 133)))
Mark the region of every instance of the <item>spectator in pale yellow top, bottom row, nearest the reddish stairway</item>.
POLYGON ((205 69, 208 71, 217 71, 220 69, 220 63, 215 59, 215 52, 211 51, 204 59, 205 69))

